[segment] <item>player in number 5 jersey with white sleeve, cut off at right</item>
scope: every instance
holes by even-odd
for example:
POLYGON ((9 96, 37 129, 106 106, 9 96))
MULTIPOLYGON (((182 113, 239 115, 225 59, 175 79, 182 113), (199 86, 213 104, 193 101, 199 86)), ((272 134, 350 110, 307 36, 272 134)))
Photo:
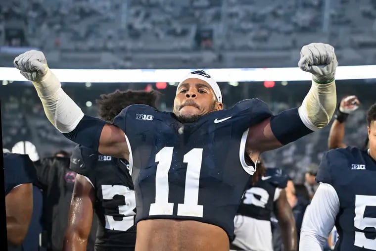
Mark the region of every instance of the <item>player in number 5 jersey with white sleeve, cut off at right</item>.
POLYGON ((376 250, 376 104, 367 112, 370 148, 346 147, 324 153, 320 186, 306 214, 301 251, 322 250, 335 225, 336 251, 376 250))

